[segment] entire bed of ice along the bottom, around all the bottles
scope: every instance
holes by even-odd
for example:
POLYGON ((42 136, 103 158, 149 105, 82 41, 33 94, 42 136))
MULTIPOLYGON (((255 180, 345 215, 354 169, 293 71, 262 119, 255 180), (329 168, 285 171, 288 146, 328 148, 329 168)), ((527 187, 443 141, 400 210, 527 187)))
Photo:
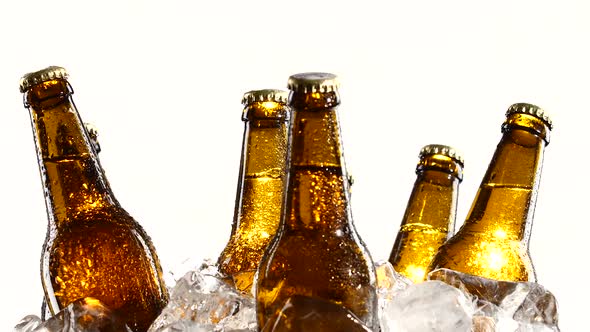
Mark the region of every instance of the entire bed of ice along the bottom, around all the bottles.
MULTIPOLYGON (((381 332, 557 332, 555 297, 536 283, 479 278, 439 269, 419 284, 379 262, 381 332)), ((149 332, 254 332, 255 301, 206 261, 171 290, 170 302, 149 332)), ((41 322, 25 317, 16 332, 130 331, 98 300, 83 299, 41 322)), ((349 310, 321 299, 293 296, 263 332, 370 332, 349 310)))

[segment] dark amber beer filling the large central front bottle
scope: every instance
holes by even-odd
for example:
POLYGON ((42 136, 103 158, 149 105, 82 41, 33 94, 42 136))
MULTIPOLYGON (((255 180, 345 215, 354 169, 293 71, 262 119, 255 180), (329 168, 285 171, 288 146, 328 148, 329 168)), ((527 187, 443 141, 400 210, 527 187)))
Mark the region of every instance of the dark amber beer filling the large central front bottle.
MULTIPOLYGON (((366 261, 366 252, 355 241, 352 231, 345 225, 331 225, 330 220, 345 217, 343 195, 324 195, 342 188, 340 168, 296 167, 293 173, 294 194, 302 204, 313 206, 305 211, 302 220, 324 224, 289 228, 272 248, 270 262, 261 266, 259 275, 259 316, 272 316, 289 297, 304 295, 329 299, 367 319, 374 314, 374 275, 362 263, 366 261), (327 210, 326 206, 333 208, 327 210)), ((266 319, 262 321, 264 324, 266 319)))

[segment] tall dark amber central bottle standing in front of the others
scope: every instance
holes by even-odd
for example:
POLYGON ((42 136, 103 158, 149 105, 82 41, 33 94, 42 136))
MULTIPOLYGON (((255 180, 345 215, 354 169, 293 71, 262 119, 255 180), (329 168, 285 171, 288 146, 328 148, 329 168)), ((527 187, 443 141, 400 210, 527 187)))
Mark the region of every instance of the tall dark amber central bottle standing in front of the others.
POLYGON ((281 223, 256 284, 262 329, 293 296, 331 301, 378 328, 375 269, 350 212, 337 77, 289 78, 288 182, 281 223))

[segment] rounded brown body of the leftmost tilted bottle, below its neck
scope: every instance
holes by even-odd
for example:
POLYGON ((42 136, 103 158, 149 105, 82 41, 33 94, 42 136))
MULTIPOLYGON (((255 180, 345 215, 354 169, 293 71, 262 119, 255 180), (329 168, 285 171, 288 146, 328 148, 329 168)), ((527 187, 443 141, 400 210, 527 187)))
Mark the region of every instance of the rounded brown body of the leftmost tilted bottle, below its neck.
POLYGON ((43 245, 41 274, 50 311, 100 299, 134 331, 147 331, 167 304, 151 240, 124 210, 95 211, 57 227, 43 245))

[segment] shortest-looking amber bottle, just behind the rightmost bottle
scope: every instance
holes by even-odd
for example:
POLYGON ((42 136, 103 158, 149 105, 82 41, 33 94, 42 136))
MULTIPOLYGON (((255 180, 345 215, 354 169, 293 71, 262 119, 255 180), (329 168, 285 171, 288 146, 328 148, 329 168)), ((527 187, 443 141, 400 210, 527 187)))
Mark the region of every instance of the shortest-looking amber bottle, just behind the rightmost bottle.
POLYGON ((417 179, 395 244, 393 268, 413 282, 424 281, 438 248, 454 233, 463 157, 454 148, 431 144, 420 150, 417 179))

